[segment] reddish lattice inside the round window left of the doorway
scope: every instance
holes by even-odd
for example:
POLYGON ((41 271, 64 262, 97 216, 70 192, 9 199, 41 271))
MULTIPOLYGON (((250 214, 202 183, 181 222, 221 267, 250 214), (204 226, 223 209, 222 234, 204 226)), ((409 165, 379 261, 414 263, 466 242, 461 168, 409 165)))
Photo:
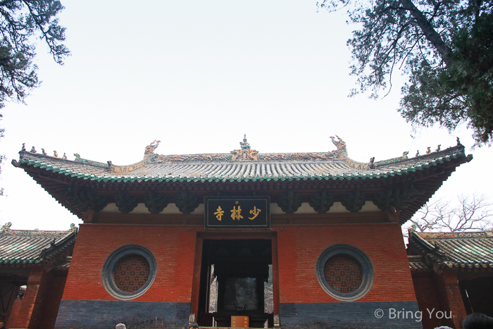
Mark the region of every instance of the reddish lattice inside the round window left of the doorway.
POLYGON ((136 292, 144 287, 151 275, 151 267, 144 256, 129 255, 123 257, 115 267, 113 280, 119 290, 136 292))

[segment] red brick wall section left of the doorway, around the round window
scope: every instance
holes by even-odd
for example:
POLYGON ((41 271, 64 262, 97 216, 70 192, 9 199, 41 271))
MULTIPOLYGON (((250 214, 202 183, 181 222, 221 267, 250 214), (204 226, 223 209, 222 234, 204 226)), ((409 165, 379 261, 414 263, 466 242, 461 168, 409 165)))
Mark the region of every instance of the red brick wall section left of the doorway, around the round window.
POLYGON ((134 299, 143 302, 190 302, 196 232, 175 225, 82 224, 70 263, 63 299, 115 300, 101 282, 104 262, 119 247, 139 244, 156 257, 156 279, 134 299))

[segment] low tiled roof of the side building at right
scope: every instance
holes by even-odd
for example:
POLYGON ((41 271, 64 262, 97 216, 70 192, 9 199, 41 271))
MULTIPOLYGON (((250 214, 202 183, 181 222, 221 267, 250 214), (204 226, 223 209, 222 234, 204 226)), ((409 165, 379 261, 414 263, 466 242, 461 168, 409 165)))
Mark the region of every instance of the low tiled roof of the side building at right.
POLYGON ((409 231, 409 242, 441 267, 493 268, 493 231, 426 233, 409 231))

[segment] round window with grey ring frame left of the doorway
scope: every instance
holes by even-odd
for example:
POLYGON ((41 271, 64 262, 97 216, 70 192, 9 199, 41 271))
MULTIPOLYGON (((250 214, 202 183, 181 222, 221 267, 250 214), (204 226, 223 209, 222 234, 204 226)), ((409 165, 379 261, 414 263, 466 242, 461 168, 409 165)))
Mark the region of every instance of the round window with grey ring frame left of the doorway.
POLYGON ((151 287, 156 277, 156 259, 138 244, 127 244, 108 256, 103 266, 103 285, 117 299, 134 299, 151 287))

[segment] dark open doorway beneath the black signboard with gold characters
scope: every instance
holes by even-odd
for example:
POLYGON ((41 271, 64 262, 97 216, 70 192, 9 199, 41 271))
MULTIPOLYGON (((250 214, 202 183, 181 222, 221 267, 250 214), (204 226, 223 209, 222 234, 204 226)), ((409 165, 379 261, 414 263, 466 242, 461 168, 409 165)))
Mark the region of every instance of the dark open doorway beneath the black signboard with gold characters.
POLYGON ((199 325, 231 327, 232 316, 248 316, 249 328, 272 328, 272 259, 270 239, 204 239, 199 325))

